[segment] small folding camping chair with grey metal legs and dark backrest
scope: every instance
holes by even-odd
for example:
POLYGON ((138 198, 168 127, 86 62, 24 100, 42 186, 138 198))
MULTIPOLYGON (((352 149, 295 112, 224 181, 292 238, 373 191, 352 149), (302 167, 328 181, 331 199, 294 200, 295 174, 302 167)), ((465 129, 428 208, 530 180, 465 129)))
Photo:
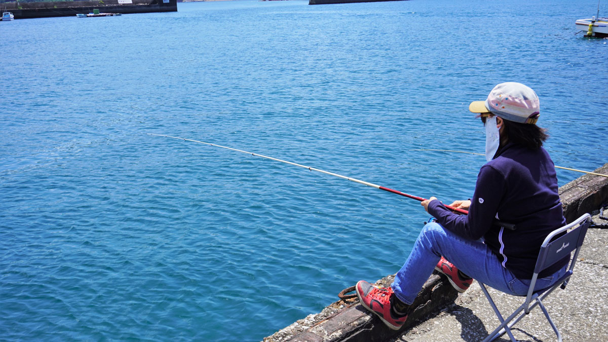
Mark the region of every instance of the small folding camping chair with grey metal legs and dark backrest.
POLYGON ((505 332, 509 335, 511 341, 517 342, 513 337, 513 333, 511 333, 511 327, 513 327, 517 322, 519 322, 519 320, 522 319, 523 316, 530 313, 530 310, 532 310, 536 305, 541 307, 541 310, 545 314, 545 317, 547 317, 547 320, 549 321, 549 324, 551 324, 553 331, 556 333, 556 335, 558 335, 558 341, 562 340, 562 336, 558 331, 558 327, 556 327, 553 321, 551 320, 547 309, 545 309, 545 305, 542 304, 542 300, 545 299, 556 288, 561 286, 561 288, 564 289, 568 284, 568 281, 570 281, 570 276, 572 276, 572 270, 576 263, 576 257, 578 257, 578 253, 579 251, 581 251, 582 240, 585 239, 585 234, 587 233, 587 228, 589 228, 590 223, 591 215, 584 214, 581 217, 577 218, 574 222, 565 225, 562 228, 555 229, 547 236, 547 238, 541 245, 541 251, 539 252, 538 259, 536 260, 536 267, 534 267, 534 274, 530 282, 530 288, 528 289, 526 301, 523 302, 523 304, 506 319, 503 319, 502 315, 500 315, 500 312, 497 309, 496 304, 494 304, 494 301, 492 301, 492 298, 490 297, 486 286, 479 282, 483 293, 486 295, 486 298, 488 298, 490 305, 492 305, 492 309, 494 309, 494 312, 496 312, 496 316, 498 316, 498 319, 501 322, 500 326, 494 329, 494 331, 491 332, 485 340, 483 340, 484 342, 492 341, 505 332), (568 229, 571 228, 573 229, 564 234, 563 236, 553 240, 555 236, 561 234, 562 232, 566 232, 568 231, 568 229), (568 267, 568 271, 564 274, 564 276, 562 276, 558 282, 551 285, 550 287, 543 288, 539 291, 534 291, 534 285, 536 284, 538 274, 541 273, 542 270, 545 270, 546 268, 550 267, 565 256, 569 256, 574 250, 576 250, 574 253, 574 257, 570 261, 570 266, 568 267), (531 302, 533 303, 531 304, 531 302), (515 321, 513 321, 513 318, 515 318, 517 315, 519 316, 517 317, 517 319, 515 319, 515 321), (511 321, 513 321, 513 323, 510 323, 511 321))

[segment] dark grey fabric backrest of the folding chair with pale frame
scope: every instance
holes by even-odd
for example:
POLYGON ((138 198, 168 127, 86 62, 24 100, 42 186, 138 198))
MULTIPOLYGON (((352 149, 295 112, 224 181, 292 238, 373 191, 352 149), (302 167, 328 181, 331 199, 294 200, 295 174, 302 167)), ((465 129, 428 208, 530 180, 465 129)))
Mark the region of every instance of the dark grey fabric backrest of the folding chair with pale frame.
MULTIPOLYGON (((551 267, 554 263, 569 256, 573 250, 576 250, 573 257, 573 262, 575 262, 590 224, 591 215, 584 214, 574 222, 552 231, 541 245, 534 273, 541 273, 545 268, 551 267), (574 229, 568 231, 571 228, 574 229), (555 239, 556 236, 564 232, 564 235, 555 239)), ((573 265, 571 265, 570 270, 572 270, 572 267, 573 265)))

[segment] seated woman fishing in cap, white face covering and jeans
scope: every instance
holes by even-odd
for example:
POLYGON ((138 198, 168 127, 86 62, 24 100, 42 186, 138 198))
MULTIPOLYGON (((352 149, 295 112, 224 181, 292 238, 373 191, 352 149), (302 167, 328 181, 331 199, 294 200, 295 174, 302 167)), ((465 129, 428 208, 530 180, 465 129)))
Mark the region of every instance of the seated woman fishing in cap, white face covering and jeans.
MULTIPOLYGON (((536 125, 536 93, 521 83, 501 83, 469 110, 485 125, 488 161, 471 200, 451 204, 469 214, 454 214, 435 197, 422 201, 435 220, 420 232, 393 284, 381 288, 357 283, 359 301, 391 329, 404 324, 434 269, 460 292, 475 278, 500 291, 526 295, 543 240, 565 225, 553 161, 542 148, 547 134, 536 125), (514 223, 517 229, 492 225, 494 220, 514 223)), ((535 290, 553 285, 567 262, 539 274, 535 290)))

